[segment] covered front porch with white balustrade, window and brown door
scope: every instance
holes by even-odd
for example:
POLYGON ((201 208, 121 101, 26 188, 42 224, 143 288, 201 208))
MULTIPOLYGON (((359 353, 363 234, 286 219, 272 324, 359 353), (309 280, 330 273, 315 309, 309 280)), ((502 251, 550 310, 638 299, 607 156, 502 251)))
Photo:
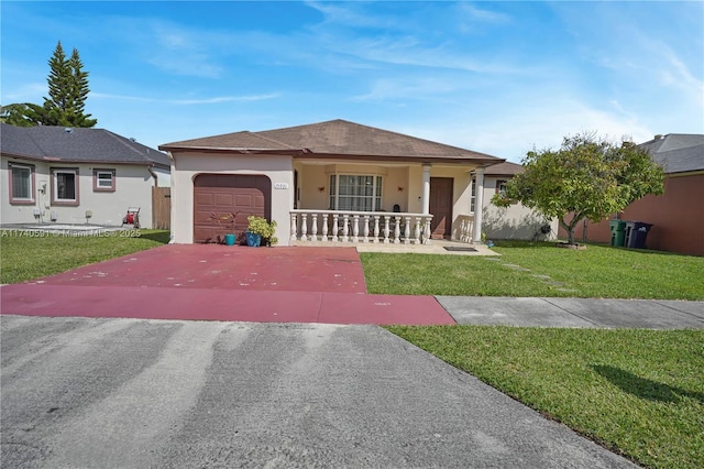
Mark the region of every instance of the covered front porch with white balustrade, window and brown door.
MULTIPOLYGON (((468 167, 469 166, 469 167, 468 167)), ((484 168, 295 161, 289 244, 481 243, 484 168)))

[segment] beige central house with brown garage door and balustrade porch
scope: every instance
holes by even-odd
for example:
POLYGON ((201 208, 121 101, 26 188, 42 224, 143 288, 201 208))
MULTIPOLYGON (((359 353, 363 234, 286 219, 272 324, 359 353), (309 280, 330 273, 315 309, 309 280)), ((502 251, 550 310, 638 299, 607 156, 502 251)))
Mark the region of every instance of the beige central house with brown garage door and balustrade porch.
MULTIPOLYGON (((262 132, 168 143, 174 161, 172 237, 177 243, 224 236, 237 215, 278 223, 280 244, 358 241, 481 241, 484 172, 504 160, 457 146, 332 120, 262 132)), ((492 187, 493 190, 493 187, 492 187)))

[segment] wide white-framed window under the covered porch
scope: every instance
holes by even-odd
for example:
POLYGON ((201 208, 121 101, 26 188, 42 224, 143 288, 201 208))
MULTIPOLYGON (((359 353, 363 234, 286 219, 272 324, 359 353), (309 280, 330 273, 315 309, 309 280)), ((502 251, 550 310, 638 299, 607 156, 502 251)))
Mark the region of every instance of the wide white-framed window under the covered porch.
POLYGON ((330 208, 375 211, 382 209, 382 176, 330 175, 330 208))

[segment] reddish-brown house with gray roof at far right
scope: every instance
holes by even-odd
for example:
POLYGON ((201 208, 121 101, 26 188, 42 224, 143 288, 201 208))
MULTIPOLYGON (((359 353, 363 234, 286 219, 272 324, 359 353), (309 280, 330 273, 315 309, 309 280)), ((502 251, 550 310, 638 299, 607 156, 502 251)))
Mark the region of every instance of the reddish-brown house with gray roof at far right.
MULTIPOLYGON (((657 135, 639 146, 664 168, 664 194, 634 201, 618 218, 652 225, 648 249, 704 255, 704 135, 657 135)), ((576 239, 584 239, 585 227, 587 240, 610 242, 609 220, 586 222, 575 230, 576 239)), ((561 236, 566 236, 562 229, 561 236)))

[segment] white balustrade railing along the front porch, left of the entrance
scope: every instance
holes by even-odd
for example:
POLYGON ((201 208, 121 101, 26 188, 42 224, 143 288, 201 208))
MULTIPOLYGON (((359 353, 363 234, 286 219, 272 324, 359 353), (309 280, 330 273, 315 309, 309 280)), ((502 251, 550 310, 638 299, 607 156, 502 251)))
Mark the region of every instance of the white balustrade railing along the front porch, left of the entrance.
POLYGON ((429 214, 297 209, 290 240, 428 244, 431 220, 429 214))

